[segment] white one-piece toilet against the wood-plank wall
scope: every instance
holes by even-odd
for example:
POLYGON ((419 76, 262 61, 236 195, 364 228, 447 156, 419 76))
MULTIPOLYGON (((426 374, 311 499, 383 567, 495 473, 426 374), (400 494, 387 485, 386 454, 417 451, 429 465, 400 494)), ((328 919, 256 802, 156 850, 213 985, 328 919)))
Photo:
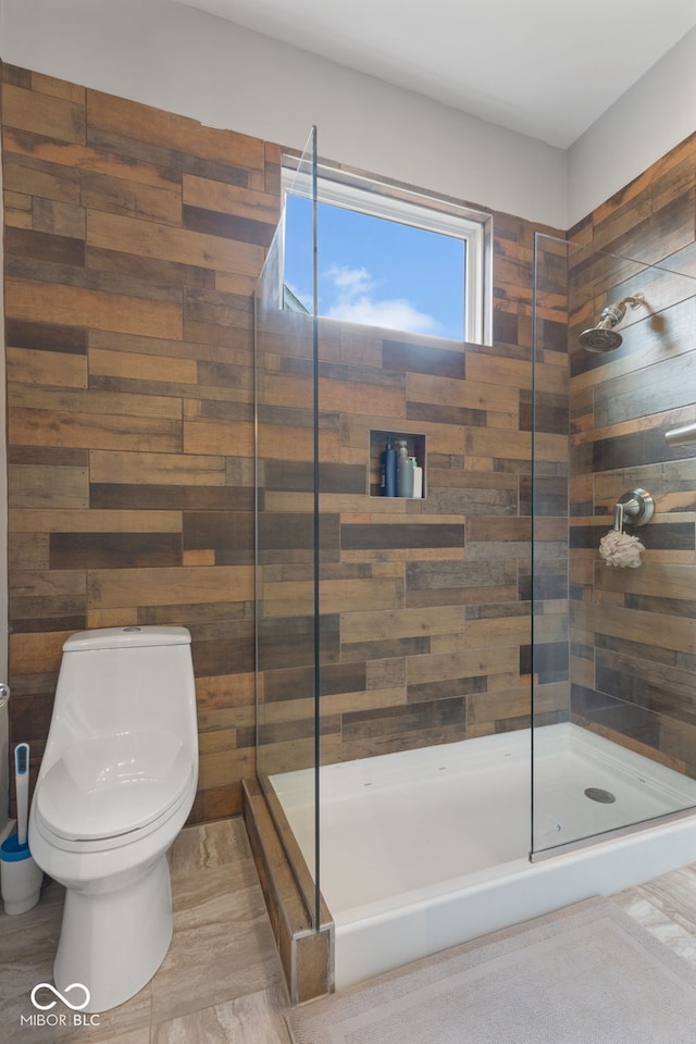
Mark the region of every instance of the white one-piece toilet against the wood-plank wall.
POLYGON ((87 986, 90 1002, 82 1010, 127 1000, 164 959, 172 937, 166 850, 197 784, 188 631, 72 635, 63 645, 28 840, 39 867, 66 888, 53 973, 61 992, 87 986))

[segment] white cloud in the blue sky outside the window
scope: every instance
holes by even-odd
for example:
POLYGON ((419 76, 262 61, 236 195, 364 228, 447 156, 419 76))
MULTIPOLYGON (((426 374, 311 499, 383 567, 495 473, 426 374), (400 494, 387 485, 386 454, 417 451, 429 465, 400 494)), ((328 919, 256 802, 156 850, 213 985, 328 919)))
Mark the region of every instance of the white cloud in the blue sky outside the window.
POLYGON ((333 265, 326 271, 325 278, 335 291, 331 295, 334 298, 331 306, 326 310, 320 309, 328 319, 341 319, 366 326, 387 326, 412 334, 437 335, 442 328, 434 316, 419 312, 402 298, 381 299, 377 285, 368 269, 333 265))

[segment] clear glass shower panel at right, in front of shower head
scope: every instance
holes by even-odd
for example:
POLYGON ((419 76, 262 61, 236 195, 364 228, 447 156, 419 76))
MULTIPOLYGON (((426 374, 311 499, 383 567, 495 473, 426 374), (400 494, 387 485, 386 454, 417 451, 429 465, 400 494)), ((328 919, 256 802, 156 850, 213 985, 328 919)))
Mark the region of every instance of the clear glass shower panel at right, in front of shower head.
POLYGON ((696 281, 537 235, 534 325, 539 856, 696 805, 696 281))

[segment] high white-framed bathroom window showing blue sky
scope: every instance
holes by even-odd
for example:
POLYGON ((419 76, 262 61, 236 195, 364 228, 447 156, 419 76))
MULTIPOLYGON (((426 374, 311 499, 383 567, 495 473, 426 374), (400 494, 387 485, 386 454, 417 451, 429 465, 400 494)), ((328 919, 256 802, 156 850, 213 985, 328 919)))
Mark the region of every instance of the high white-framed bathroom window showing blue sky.
MULTIPOLYGON (((328 319, 485 344, 490 216, 321 167, 318 312, 328 319)), ((312 310, 307 174, 284 166, 284 307, 312 310)))

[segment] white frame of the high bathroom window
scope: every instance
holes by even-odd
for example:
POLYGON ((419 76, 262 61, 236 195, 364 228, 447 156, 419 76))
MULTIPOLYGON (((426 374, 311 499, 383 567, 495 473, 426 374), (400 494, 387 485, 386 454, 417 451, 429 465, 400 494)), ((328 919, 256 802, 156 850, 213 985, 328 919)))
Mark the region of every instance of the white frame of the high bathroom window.
MULTIPOLYGON (((312 197, 311 173, 306 166, 298 170, 297 163, 296 157, 283 157, 284 203, 288 194, 312 197)), ((472 344, 490 344, 493 216, 489 213, 387 181, 323 165, 316 170, 316 199, 320 203, 463 240, 467 248, 462 336, 472 344)), ((283 250, 282 268, 284 254, 283 250)))

